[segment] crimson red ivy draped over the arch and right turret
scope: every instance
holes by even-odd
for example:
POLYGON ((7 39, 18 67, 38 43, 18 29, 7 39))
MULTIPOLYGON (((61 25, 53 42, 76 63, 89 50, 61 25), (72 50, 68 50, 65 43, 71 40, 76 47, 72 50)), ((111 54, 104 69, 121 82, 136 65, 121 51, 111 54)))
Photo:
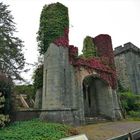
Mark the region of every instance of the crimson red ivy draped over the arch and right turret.
POLYGON ((88 70, 96 70, 100 78, 115 89, 117 80, 111 37, 109 35, 99 35, 93 38, 99 58, 83 59, 78 58, 78 48, 69 45, 68 32, 68 29, 66 29, 64 36, 57 38, 54 43, 57 46, 68 47, 70 64, 79 68, 85 67, 88 70))

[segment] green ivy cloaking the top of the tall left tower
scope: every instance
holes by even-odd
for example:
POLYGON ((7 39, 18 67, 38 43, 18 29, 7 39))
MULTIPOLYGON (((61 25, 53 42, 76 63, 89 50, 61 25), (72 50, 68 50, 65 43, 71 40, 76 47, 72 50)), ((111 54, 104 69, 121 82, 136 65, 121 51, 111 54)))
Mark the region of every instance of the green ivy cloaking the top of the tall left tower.
POLYGON ((68 31, 66 31, 68 27, 67 7, 59 2, 45 5, 41 13, 37 37, 40 54, 44 54, 47 51, 50 43, 55 42, 58 38, 64 36, 64 34, 68 35, 68 31))

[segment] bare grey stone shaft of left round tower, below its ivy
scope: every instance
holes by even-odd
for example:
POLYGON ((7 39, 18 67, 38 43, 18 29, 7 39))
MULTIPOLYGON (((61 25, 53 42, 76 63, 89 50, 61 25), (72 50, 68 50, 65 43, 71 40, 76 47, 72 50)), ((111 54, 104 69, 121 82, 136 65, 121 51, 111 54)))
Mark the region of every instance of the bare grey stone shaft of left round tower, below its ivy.
POLYGON ((50 44, 44 55, 43 97, 40 118, 73 123, 71 72, 68 48, 50 44))

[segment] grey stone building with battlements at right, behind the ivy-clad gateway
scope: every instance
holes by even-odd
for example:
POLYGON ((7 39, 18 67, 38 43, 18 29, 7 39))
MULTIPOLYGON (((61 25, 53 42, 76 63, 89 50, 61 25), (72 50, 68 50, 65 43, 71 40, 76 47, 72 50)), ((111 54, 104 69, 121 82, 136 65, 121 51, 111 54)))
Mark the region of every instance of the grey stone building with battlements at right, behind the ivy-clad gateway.
POLYGON ((120 86, 140 94, 140 49, 128 42, 116 47, 114 54, 120 86))

